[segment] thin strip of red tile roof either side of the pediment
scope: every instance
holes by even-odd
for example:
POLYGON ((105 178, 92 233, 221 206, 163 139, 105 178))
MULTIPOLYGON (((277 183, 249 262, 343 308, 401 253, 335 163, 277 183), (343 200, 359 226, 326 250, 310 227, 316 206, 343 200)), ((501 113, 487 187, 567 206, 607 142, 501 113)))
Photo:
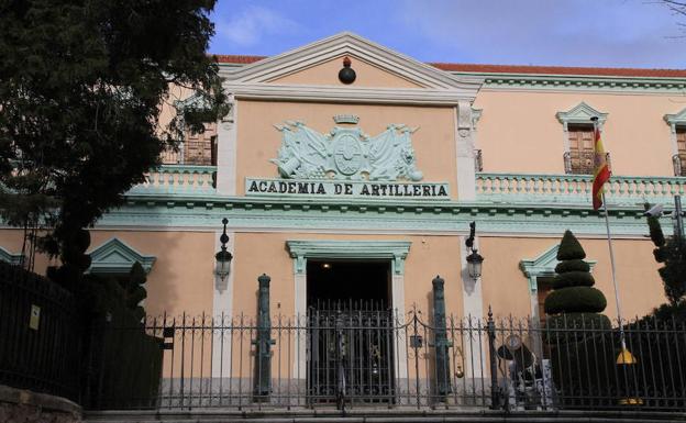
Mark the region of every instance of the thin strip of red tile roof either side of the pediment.
MULTIPOLYGON (((250 65, 267 56, 215 55, 219 63, 250 65)), ((565 66, 521 66, 521 65, 479 65, 456 63, 430 63, 442 70, 475 74, 539 74, 539 75, 580 75, 602 77, 633 78, 686 78, 686 69, 642 69, 608 67, 565 67, 565 66)))

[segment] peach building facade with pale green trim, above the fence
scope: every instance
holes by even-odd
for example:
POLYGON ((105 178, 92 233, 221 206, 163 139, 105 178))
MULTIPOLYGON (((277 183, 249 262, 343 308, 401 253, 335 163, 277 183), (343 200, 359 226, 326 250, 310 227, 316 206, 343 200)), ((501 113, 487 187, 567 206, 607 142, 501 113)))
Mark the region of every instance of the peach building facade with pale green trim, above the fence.
MULTIPOLYGON (((366 299, 403 314, 431 308, 440 275, 449 314, 540 319, 569 229, 615 318, 605 219, 590 207, 591 116, 611 163, 626 316, 664 302, 641 212, 686 186, 686 71, 423 64, 350 33, 219 58, 230 114, 92 230, 91 271, 141 261, 148 313, 255 315, 267 274, 273 313, 366 299), (220 278, 223 218, 234 259, 220 278)), ((16 260, 21 243, 3 229, 1 257, 16 260)))

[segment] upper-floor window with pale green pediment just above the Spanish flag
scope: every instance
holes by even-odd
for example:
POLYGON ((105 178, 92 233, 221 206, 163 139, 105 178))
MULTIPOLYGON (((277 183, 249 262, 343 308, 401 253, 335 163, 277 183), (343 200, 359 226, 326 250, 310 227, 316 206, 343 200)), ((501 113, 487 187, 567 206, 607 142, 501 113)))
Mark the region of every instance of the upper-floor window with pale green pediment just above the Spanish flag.
MULTIPOLYGON (((585 102, 580 102, 566 112, 557 112, 557 120, 562 123, 565 134, 563 155, 565 174, 593 175, 595 140, 590 118, 597 116, 602 127, 607 115, 585 102)), ((609 153, 606 153, 606 158, 609 165, 609 153)))

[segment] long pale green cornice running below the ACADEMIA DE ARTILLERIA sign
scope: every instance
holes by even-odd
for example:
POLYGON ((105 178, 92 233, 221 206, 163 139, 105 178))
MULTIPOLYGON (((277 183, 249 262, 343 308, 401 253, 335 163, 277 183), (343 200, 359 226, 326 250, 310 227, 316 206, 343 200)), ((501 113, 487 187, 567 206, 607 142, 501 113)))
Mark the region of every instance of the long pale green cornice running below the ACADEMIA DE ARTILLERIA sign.
MULTIPOLYGON (((648 233, 642 208, 610 210, 613 234, 640 237, 648 233)), ((454 233, 479 222, 479 231, 498 234, 577 234, 602 236, 605 220, 587 204, 362 201, 322 199, 129 196, 125 205, 98 222, 98 227, 181 229, 214 231, 222 218, 235 231, 318 231, 454 233)), ((668 225, 665 225, 668 226, 668 225)), ((667 229, 667 227, 665 227, 667 229)))

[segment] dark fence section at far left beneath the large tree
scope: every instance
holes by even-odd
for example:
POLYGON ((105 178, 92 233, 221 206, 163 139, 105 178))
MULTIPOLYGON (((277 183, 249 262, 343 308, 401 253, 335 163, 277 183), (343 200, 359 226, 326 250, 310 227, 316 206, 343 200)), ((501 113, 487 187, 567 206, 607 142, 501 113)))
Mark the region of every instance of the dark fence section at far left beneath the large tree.
POLYGON ((58 285, 0 261, 0 383, 78 401, 76 305, 58 285))

